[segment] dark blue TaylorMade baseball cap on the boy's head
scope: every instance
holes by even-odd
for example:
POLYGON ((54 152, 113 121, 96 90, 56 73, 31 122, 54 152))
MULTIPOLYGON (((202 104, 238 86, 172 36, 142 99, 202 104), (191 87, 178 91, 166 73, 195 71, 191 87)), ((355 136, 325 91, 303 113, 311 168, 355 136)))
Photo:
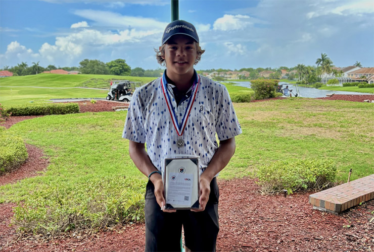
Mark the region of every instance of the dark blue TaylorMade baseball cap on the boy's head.
POLYGON ((165 44, 171 36, 176 34, 190 36, 199 43, 199 36, 193 24, 184 20, 175 20, 166 26, 164 35, 162 35, 162 45, 165 44))

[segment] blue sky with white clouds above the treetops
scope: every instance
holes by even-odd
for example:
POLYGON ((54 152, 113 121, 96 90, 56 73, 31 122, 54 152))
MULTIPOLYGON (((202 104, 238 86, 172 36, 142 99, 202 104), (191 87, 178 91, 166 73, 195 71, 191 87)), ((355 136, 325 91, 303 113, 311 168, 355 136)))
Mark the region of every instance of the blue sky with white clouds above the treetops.
MULTIPOLYGON (((170 19, 170 0, 0 0, 0 68, 123 58, 156 69, 170 19)), ((313 66, 322 52, 374 67, 372 0, 179 0, 179 19, 206 49, 198 70, 313 66)))

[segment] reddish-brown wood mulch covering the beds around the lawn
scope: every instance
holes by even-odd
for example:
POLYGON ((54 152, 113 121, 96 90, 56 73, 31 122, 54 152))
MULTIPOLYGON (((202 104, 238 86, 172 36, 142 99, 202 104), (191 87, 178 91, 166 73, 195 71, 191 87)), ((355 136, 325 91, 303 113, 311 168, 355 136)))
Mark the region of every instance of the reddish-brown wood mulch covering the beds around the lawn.
MULTIPOLYGON (((84 112, 113 111, 112 106, 115 106, 107 101, 78 103, 84 112)), ((13 123, 25 119, 23 116, 18 117, 19 120, 15 118, 13 123)), ((10 126, 8 124, 7 128, 10 126)), ((0 177, 0 184, 35 175, 37 170, 48 165, 48 161, 41 160, 42 152, 31 146, 28 151, 29 161, 20 171, 0 177), (25 171, 21 172, 22 169, 25 171)), ((334 215, 313 210, 308 204, 308 193, 287 198, 261 196, 256 180, 250 178, 219 180, 218 183, 218 251, 374 251, 374 221, 369 222, 374 217, 374 201, 334 215)), ((1 204, 0 251, 144 251, 143 223, 116 226, 97 233, 68 232, 55 238, 20 236, 15 227, 9 226, 15 206, 14 203, 1 204)))

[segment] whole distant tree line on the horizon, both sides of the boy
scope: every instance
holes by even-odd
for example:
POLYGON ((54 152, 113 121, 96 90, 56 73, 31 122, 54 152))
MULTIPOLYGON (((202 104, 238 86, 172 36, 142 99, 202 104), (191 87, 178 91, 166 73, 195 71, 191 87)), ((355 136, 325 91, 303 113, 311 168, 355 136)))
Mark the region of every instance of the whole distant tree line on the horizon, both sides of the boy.
MULTIPOLYGON (((301 84, 314 84, 316 82, 321 81, 321 76, 323 74, 331 74, 333 73, 335 77, 341 77, 343 72, 334 68, 333 61, 327 56, 326 53, 321 53, 321 57, 317 58, 315 62, 316 66, 305 66, 304 64, 298 64, 293 68, 288 68, 285 66, 281 66, 279 68, 242 68, 242 69, 235 69, 236 72, 246 71, 249 72, 249 77, 245 77, 241 75, 241 79, 250 79, 255 80, 260 77, 259 73, 263 71, 271 71, 269 77, 267 79, 280 79, 282 78, 282 70, 286 70, 289 72, 286 74, 287 79, 294 80, 297 79, 301 84), (290 73, 291 71, 296 70, 295 73, 290 73)), ((354 66, 362 67, 361 63, 356 61, 354 66)), ((112 60, 110 62, 104 63, 98 59, 83 59, 79 62, 79 67, 63 67, 63 68, 56 68, 54 65, 49 65, 46 68, 39 66, 38 62, 32 62, 31 66, 27 65, 27 62, 21 62, 21 64, 17 64, 14 67, 5 66, 2 70, 7 70, 13 73, 14 76, 24 76, 24 75, 34 75, 39 74, 44 71, 51 71, 56 69, 63 69, 65 71, 79 71, 82 74, 97 74, 97 75, 119 75, 119 76, 138 76, 138 77, 160 77, 163 73, 163 69, 158 68, 156 70, 145 70, 143 68, 136 67, 131 69, 130 66, 126 64, 126 60, 118 58, 112 60)), ((230 69, 208 69, 208 70, 199 70, 197 71, 199 74, 204 72, 212 73, 212 72, 229 72, 230 69)), ((218 80, 222 77, 215 77, 218 80)), ((218 80, 220 81, 220 80, 218 80)))

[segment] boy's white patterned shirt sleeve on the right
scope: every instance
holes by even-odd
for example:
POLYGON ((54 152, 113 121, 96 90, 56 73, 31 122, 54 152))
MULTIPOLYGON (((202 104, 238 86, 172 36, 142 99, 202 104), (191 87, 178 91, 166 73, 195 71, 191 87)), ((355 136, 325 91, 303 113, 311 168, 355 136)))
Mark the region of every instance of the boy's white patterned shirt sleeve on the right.
POLYGON ((216 121, 216 133, 218 139, 227 140, 242 134, 238 117, 233 108, 230 96, 225 86, 222 85, 222 92, 218 99, 218 112, 216 121))

